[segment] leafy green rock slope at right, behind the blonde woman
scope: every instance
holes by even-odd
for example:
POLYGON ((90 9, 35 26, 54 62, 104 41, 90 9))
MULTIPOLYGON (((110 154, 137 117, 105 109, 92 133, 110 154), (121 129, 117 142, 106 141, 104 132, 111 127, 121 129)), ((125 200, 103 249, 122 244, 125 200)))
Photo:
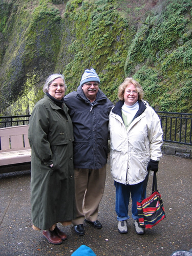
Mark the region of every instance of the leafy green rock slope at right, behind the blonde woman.
POLYGON ((133 39, 125 75, 139 80, 156 110, 191 113, 192 3, 165 4, 161 15, 148 16, 133 39))

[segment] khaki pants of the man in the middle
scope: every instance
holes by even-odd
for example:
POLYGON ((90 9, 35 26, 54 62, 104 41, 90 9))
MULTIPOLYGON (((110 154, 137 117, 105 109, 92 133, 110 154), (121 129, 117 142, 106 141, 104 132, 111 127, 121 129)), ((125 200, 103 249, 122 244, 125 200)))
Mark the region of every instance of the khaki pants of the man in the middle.
POLYGON ((72 223, 79 225, 84 219, 96 221, 104 193, 106 165, 100 169, 75 168, 74 176, 77 218, 72 223))

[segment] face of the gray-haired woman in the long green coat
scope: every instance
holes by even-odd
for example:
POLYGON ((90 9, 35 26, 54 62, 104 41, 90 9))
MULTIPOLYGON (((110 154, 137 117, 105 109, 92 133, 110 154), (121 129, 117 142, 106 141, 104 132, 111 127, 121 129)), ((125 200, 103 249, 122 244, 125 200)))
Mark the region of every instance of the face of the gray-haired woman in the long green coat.
POLYGON ((61 100, 65 95, 65 83, 58 77, 49 86, 49 94, 55 99, 61 100))

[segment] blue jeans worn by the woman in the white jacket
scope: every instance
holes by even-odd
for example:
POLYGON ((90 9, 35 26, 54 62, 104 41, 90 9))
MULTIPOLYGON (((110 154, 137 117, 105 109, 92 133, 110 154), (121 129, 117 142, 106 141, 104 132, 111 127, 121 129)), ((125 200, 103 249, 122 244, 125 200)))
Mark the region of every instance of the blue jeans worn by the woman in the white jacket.
POLYGON ((130 194, 132 198, 132 218, 134 220, 137 220, 139 218, 137 214, 137 201, 141 200, 142 198, 143 183, 144 181, 135 185, 124 185, 116 181, 114 182, 114 185, 116 187, 115 210, 118 221, 124 221, 130 218, 128 215, 130 194))

